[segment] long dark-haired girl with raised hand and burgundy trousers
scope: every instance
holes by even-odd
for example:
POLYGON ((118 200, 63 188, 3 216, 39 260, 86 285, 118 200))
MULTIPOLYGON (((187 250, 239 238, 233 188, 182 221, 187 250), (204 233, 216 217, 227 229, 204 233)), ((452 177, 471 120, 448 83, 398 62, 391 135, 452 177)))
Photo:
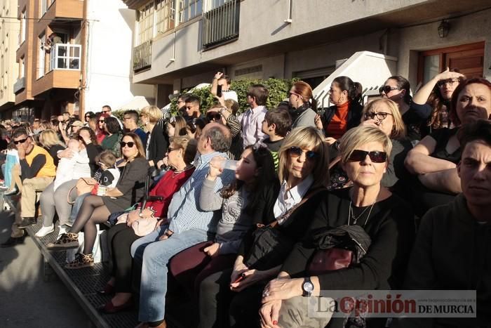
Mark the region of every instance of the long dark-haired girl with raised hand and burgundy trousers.
POLYGON ((266 147, 248 146, 242 152, 235 171, 236 180, 220 192, 213 192, 215 180, 223 169, 217 168, 223 157, 215 157, 203 182, 199 206, 203 211, 217 209, 222 204, 222 217, 218 222, 213 242, 202 242, 180 252, 170 262, 173 276, 196 296, 199 285, 206 277, 234 264, 242 238, 253 221, 264 216, 260 206, 265 187, 276 179, 273 157, 266 147))

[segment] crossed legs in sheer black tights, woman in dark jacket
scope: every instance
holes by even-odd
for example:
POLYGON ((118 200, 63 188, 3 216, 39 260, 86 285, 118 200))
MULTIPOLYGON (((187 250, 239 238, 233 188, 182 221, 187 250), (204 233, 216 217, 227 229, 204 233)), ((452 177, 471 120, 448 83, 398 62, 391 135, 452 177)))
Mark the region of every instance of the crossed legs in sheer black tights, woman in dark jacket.
POLYGON ((83 204, 77 214, 74 225, 69 232, 79 233, 83 229, 83 254, 92 254, 97 223, 105 223, 111 214, 102 202, 102 197, 90 195, 83 199, 83 204))

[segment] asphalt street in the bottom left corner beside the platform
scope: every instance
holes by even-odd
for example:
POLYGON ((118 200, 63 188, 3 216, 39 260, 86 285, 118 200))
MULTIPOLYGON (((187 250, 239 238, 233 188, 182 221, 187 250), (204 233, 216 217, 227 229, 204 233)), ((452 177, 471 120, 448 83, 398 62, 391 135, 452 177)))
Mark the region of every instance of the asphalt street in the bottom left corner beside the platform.
MULTIPOLYGON (((0 243, 10 236, 12 223, 13 214, 0 212, 0 243)), ((43 257, 29 236, 23 244, 0 248, 0 327, 91 327, 56 275, 43 280, 43 257)))

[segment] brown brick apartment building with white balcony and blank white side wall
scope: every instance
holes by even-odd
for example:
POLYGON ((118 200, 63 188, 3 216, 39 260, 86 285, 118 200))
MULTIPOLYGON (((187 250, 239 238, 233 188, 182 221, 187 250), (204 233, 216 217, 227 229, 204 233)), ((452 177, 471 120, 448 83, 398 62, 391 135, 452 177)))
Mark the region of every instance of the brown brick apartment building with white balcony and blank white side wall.
POLYGON ((154 87, 130 81, 135 18, 121 0, 18 0, 15 104, 31 117, 118 109, 154 87), (126 54, 126 55, 125 55, 126 54))

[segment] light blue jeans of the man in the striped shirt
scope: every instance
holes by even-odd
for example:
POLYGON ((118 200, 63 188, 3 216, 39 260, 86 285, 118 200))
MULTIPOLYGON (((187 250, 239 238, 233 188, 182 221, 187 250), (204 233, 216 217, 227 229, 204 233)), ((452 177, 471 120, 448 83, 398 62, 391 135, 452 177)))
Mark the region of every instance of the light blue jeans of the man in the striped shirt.
POLYGON ((170 258, 184 249, 208 240, 203 230, 187 230, 173 234, 168 240, 159 241, 159 235, 167 226, 136 240, 131 245, 131 256, 142 263, 142 281, 140 283, 140 322, 163 320, 166 312, 167 265, 170 258))

